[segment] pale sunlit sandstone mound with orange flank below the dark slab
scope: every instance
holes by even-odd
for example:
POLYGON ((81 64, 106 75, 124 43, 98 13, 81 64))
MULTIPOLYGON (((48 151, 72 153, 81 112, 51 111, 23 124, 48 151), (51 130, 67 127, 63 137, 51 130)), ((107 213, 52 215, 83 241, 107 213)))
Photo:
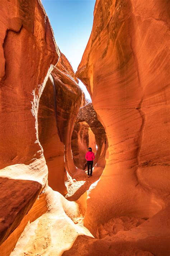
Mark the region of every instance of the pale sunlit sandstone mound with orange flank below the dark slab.
POLYGON ((0 255, 62 255, 79 235, 93 237, 81 220, 76 202, 67 201, 46 186, 20 225, 0 246, 0 255))

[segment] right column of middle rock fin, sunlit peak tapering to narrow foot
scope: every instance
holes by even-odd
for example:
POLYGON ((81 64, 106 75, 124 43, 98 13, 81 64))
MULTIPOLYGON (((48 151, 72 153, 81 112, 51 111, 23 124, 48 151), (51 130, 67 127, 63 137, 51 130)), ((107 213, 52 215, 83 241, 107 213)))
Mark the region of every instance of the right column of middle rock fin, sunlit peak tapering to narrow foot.
POLYGON ((82 91, 69 61, 62 53, 52 77, 55 85, 58 135, 65 146, 65 169, 72 175, 76 168, 72 159, 71 135, 81 105, 82 91))

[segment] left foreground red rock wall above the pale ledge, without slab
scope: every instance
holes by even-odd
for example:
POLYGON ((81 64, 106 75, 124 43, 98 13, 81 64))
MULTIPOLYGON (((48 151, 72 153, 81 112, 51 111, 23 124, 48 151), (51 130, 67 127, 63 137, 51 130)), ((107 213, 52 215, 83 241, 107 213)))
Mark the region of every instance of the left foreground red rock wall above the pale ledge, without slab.
POLYGON ((38 101, 60 53, 39 1, 1 1, 3 55, 0 168, 28 164, 42 155, 38 101))

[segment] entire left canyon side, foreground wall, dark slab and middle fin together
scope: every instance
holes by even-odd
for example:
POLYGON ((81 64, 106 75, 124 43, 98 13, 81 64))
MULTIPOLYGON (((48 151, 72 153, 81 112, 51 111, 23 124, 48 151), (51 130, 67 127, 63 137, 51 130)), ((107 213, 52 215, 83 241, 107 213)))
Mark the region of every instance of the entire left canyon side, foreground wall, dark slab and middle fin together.
POLYGON ((0 6, 3 243, 30 210, 47 177, 53 189, 67 193, 64 171, 75 170, 70 157, 71 134, 81 89, 69 61, 56 45, 41 1, 0 1, 0 6))

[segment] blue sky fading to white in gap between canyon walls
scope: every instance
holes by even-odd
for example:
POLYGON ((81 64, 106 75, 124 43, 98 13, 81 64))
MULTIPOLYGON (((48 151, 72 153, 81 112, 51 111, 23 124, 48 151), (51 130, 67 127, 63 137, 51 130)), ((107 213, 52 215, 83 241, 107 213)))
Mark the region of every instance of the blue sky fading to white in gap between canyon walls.
MULTIPOLYGON (((74 71, 81 61, 93 26, 95 0, 42 0, 49 17, 58 47, 74 71)), ((79 82, 86 98, 90 95, 79 82)))

